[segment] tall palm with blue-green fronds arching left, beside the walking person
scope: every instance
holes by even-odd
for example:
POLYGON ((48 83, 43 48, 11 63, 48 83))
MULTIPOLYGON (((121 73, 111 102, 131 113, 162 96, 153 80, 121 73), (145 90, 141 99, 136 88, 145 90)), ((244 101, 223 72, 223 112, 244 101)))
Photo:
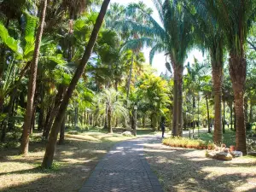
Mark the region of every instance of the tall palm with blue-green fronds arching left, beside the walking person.
POLYGON ((136 49, 143 44, 151 46, 150 62, 156 52, 166 52, 174 71, 174 101, 172 113, 172 135, 181 136, 183 127, 183 63, 192 48, 191 17, 184 9, 182 2, 173 0, 153 1, 154 7, 160 15, 158 23, 152 15, 137 5, 130 7, 130 11, 138 10, 148 22, 146 24, 126 20, 125 25, 131 27, 131 32, 137 32, 141 38, 133 39, 126 44, 136 49))

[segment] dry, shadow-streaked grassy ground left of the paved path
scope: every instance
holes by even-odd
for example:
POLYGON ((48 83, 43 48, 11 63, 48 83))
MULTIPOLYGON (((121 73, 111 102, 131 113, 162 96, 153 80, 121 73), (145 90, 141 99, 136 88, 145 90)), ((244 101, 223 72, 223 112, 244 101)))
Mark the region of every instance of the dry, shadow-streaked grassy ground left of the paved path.
POLYGON ((18 148, 0 150, 0 191, 78 191, 114 143, 132 138, 98 129, 67 134, 65 144, 56 146, 53 168, 42 170, 45 143, 40 136, 33 135, 26 157, 16 155, 18 148))

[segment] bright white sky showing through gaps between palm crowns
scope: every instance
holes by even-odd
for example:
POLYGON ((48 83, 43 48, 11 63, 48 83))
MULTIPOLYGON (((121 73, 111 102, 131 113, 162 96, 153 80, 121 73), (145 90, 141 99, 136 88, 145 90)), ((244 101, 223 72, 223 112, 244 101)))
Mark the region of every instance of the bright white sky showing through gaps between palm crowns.
MULTIPOLYGON (((141 0, 143 1, 143 3, 147 4, 148 7, 152 8, 154 10, 153 13, 153 17, 155 20, 159 21, 159 15, 157 14, 156 10, 154 9, 154 4, 152 3, 152 0, 141 0)), ((139 0, 111 0, 111 3, 120 3, 123 5, 127 5, 128 3, 138 3, 139 0)), ((150 48, 144 48, 143 52, 144 55, 146 57, 146 62, 149 63, 149 51, 150 48)), ((193 63, 194 62, 194 57, 198 60, 198 61, 203 61, 203 55, 201 54, 201 51, 197 50, 197 49, 193 49, 189 55, 188 55, 188 59, 187 61, 185 61, 185 63, 193 63)), ((164 53, 159 53, 157 55, 154 56, 154 60, 153 60, 153 67, 157 69, 157 73, 166 73, 166 56, 164 55, 164 53)))

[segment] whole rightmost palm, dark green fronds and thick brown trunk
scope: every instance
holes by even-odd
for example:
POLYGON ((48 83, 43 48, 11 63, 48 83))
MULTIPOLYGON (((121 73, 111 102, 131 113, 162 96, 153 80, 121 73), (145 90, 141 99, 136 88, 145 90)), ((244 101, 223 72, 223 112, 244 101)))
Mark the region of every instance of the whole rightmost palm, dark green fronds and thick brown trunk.
POLYGON ((235 96, 236 148, 247 154, 244 88, 247 72, 245 45, 247 34, 255 19, 253 0, 200 0, 201 9, 218 21, 223 29, 229 50, 230 78, 235 96))

